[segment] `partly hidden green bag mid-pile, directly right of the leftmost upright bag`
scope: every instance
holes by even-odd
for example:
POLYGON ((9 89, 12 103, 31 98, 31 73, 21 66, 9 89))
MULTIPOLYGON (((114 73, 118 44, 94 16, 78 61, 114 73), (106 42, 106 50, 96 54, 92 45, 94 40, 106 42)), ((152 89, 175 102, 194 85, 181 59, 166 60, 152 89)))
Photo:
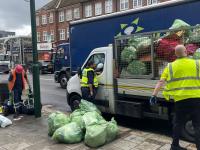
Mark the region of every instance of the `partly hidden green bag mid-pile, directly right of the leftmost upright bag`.
POLYGON ((73 111, 70 115, 71 122, 76 122, 81 127, 81 129, 84 129, 85 124, 82 117, 85 113, 86 113, 85 111, 82 111, 80 109, 73 111))

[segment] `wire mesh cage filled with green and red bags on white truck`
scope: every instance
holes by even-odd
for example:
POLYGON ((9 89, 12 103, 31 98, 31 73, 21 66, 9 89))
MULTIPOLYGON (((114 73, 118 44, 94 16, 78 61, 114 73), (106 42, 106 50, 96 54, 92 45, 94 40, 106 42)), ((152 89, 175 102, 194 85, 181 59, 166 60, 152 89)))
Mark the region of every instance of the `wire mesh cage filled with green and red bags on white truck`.
POLYGON ((167 64, 176 59, 178 44, 186 46, 189 57, 200 59, 200 26, 116 37, 119 78, 160 78, 167 64))

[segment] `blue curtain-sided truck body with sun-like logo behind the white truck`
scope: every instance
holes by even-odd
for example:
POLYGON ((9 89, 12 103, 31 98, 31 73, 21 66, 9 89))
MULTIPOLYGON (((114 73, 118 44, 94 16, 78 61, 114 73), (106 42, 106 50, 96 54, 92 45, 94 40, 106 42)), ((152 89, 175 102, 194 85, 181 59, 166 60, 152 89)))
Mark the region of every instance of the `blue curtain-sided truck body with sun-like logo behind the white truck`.
POLYGON ((175 19, 181 19, 192 26, 199 24, 199 8, 198 0, 178 0, 72 22, 70 26, 72 71, 81 66, 92 49, 113 43, 114 37, 120 33, 124 35, 124 31, 128 32, 129 27, 134 27, 134 29, 129 28, 129 31, 133 29, 131 34, 134 34, 168 29, 175 19))

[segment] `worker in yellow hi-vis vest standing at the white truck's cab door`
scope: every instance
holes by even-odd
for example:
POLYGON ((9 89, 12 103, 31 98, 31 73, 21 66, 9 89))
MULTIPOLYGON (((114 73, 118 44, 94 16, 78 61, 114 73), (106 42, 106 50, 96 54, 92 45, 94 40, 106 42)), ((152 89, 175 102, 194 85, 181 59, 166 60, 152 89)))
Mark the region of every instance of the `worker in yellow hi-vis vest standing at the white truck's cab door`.
POLYGON ((82 98, 93 101, 98 88, 97 75, 95 73, 96 64, 93 61, 88 62, 87 67, 82 72, 81 92, 82 98))

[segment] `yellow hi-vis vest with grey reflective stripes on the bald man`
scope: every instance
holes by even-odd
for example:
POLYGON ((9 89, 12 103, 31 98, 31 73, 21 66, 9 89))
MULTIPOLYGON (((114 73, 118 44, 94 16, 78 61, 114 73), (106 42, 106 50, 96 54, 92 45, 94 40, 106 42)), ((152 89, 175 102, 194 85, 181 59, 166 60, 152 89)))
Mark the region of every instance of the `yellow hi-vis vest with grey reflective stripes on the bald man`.
POLYGON ((200 98, 200 61, 180 58, 169 63, 167 84, 163 91, 164 97, 176 101, 188 98, 200 98))

